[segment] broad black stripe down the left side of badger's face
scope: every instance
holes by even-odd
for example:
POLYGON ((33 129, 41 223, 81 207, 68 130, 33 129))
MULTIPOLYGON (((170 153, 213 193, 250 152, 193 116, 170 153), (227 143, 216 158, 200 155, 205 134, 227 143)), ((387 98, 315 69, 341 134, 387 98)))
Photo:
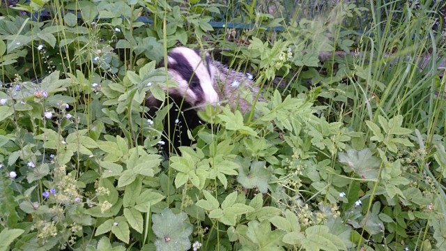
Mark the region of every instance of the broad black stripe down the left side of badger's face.
MULTIPOLYGON (((190 65, 189 61, 183 56, 183 54, 171 52, 169 56, 176 61, 176 63, 169 63, 168 69, 174 70, 181 78, 185 79, 189 83, 189 89, 195 93, 197 100, 195 104, 201 104, 203 102, 203 89, 201 88, 200 79, 194 74, 194 68, 190 65)), ((196 66, 195 66, 196 67, 196 66)))

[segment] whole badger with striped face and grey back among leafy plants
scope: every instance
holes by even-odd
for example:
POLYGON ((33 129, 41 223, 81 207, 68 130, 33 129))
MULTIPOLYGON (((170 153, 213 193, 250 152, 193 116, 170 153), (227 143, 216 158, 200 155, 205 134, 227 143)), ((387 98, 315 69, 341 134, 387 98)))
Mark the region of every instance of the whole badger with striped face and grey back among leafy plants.
MULTIPOLYGON (((164 67, 163 62, 160 67, 164 67)), ((254 85, 251 75, 232 70, 199 50, 174 48, 167 54, 167 70, 178 86, 163 87, 168 92, 169 103, 173 104, 169 118, 164 118, 163 137, 173 144, 175 151, 178 146, 192 144, 187 130, 202 124, 197 111, 207 104, 227 104, 231 109, 246 113, 251 109, 252 100, 258 98, 259 87, 254 85)), ((162 102, 149 95, 146 105, 154 111, 156 109, 153 108, 159 108, 162 102)), ((169 154, 166 146, 163 151, 169 154)))

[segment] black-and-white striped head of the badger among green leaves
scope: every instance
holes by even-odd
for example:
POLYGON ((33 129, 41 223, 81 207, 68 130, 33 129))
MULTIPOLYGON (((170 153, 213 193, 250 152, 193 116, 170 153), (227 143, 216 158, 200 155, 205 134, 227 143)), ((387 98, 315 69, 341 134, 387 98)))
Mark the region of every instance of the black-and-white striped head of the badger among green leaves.
POLYGON ((167 54, 167 69, 178 88, 169 88, 170 96, 179 96, 196 107, 217 104, 218 95, 214 89, 216 68, 210 56, 201 56, 199 51, 176 47, 167 54))

